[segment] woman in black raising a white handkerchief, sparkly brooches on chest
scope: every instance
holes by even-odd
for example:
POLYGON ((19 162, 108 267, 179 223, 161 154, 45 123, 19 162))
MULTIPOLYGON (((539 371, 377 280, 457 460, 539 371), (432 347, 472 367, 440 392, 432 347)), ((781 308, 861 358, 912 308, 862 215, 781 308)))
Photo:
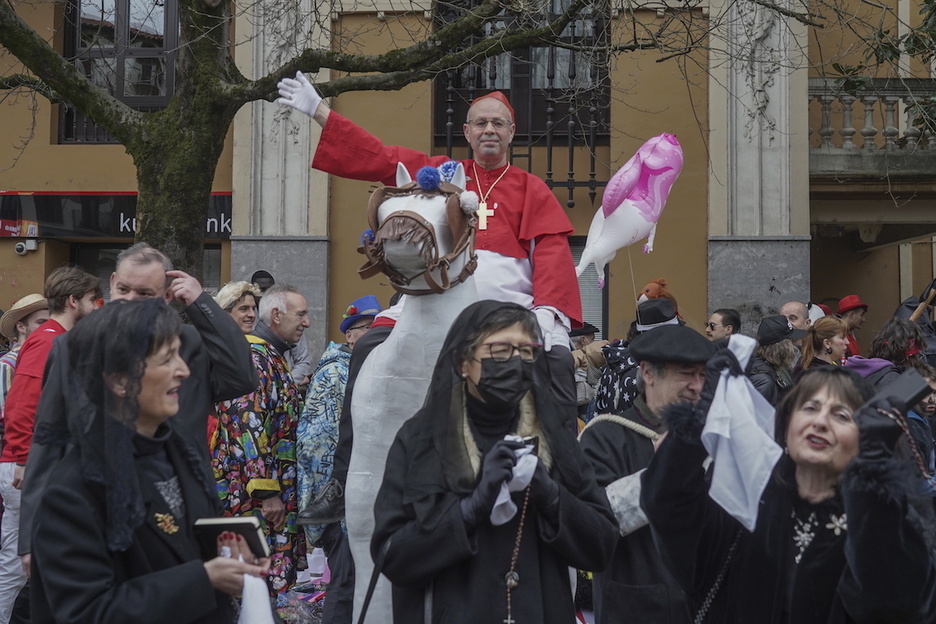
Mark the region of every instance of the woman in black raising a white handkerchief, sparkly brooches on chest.
POLYGON ((931 503, 920 497, 919 470, 895 453, 903 406, 862 407, 871 394, 857 374, 832 366, 805 373, 791 389, 776 414, 785 453, 753 532, 708 496, 705 414, 670 408, 641 505, 702 621, 936 621, 931 503))

